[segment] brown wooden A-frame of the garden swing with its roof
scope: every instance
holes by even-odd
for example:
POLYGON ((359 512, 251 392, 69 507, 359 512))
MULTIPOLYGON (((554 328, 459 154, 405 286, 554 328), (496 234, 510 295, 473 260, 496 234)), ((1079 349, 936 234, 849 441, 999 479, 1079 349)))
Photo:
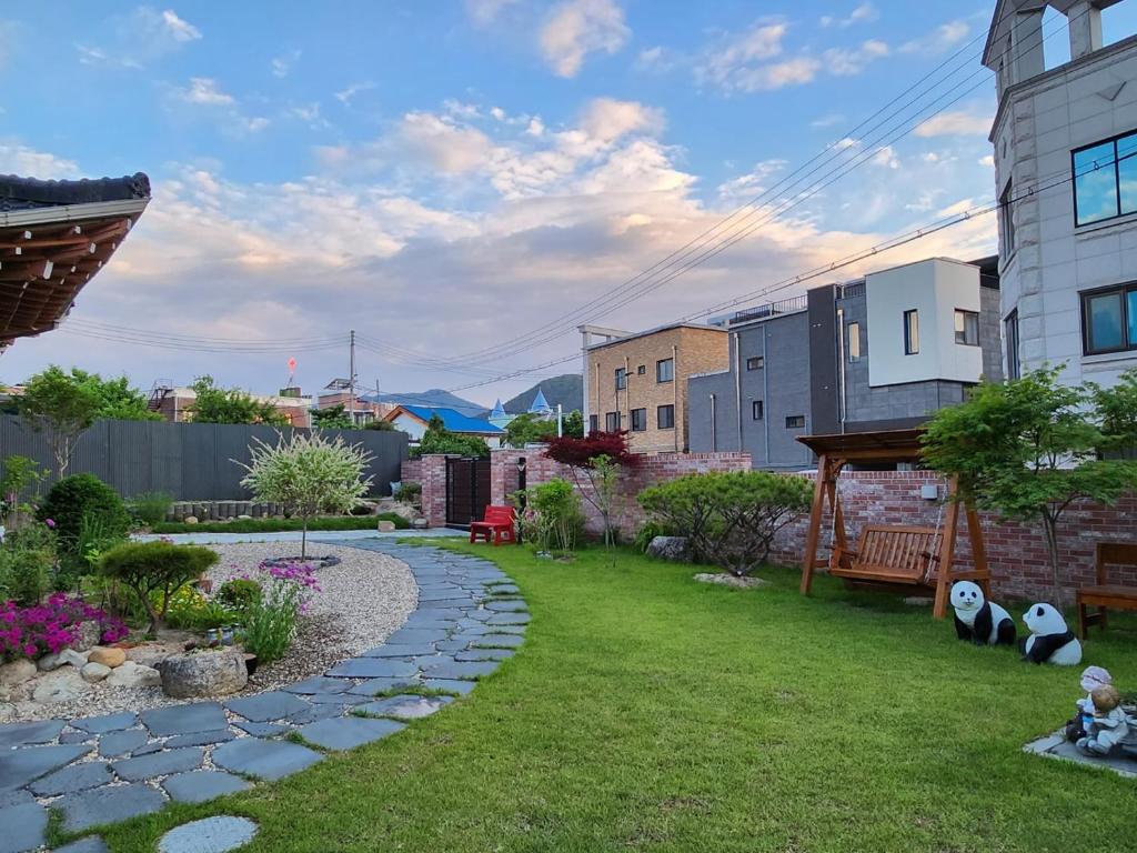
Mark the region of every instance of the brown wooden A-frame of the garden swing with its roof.
MULTIPOLYGON (((939 544, 935 554, 928 554, 929 569, 921 580, 905 581, 901 587, 896 583, 882 582, 879 577, 858 577, 856 564, 849 561, 856 552, 850 547, 845 530, 845 514, 841 510, 840 491, 837 480, 849 463, 890 464, 898 462, 920 462, 920 429, 880 430, 875 432, 846 432, 833 436, 799 436, 798 441, 808 447, 818 456, 818 479, 813 489, 813 505, 810 510, 810 524, 805 537, 805 554, 802 558, 802 594, 808 595, 813 585, 813 573, 818 569, 832 571, 839 568, 840 577, 856 587, 874 589, 897 589, 906 587, 910 591, 915 587, 931 587, 936 590, 932 605, 932 616, 944 619, 947 615, 948 595, 952 583, 956 580, 973 580, 990 597, 990 570, 987 565, 987 549, 984 545, 982 525, 979 514, 970 502, 955 499, 958 491, 957 478, 951 478, 947 487, 943 529, 937 523, 939 544), (825 505, 832 516, 832 552, 828 558, 818 558, 821 546, 821 522, 825 505), (971 555, 974 568, 957 569, 955 566, 955 544, 960 529, 960 510, 964 511, 968 524, 968 536, 971 540, 971 555)), ((865 525, 866 528, 870 525, 865 525)), ((877 531, 889 529, 897 532, 912 531, 910 525, 871 525, 877 531)))

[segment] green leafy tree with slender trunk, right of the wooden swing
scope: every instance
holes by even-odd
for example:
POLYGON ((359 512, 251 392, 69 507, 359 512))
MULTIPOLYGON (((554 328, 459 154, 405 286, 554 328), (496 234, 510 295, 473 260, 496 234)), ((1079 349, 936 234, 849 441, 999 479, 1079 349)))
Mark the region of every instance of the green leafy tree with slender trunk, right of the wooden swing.
MULTIPOLYGON (((1114 436, 1086 386, 1059 383, 1043 367, 1006 383, 981 382, 940 409, 923 436, 924 463, 958 478, 956 499, 1006 519, 1038 521, 1061 598, 1059 521, 1078 499, 1112 505, 1137 487, 1137 463, 1098 458, 1114 436)), ((1109 419, 1105 419, 1109 422, 1109 419)))

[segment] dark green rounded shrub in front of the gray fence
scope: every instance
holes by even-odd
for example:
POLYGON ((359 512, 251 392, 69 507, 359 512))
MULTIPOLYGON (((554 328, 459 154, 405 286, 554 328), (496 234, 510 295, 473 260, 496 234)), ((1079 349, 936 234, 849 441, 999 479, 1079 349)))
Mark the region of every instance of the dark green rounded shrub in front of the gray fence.
POLYGON ((101 540, 115 541, 126 537, 131 522, 123 499, 94 474, 65 477, 51 487, 35 516, 55 524, 65 573, 82 573, 89 568, 83 550, 84 523, 90 529, 97 527, 101 540))

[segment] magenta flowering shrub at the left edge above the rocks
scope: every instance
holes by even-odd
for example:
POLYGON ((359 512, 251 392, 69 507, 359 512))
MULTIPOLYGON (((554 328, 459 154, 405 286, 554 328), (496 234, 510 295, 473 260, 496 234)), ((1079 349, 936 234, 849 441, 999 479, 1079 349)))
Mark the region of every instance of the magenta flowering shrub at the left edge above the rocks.
POLYGON ((0 659, 35 660, 56 654, 75 643, 81 622, 96 621, 102 643, 117 643, 126 636, 126 626, 92 607, 81 598, 58 593, 44 604, 19 607, 15 602, 0 604, 0 659))

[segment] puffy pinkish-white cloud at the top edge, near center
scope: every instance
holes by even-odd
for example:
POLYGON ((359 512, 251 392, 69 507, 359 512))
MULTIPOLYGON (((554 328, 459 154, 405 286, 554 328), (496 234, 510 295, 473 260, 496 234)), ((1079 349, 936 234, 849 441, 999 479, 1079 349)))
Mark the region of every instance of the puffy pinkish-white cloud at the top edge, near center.
POLYGON ((614 0, 567 0, 541 28, 546 61, 562 77, 574 77, 589 53, 615 53, 631 36, 624 11, 614 0))

